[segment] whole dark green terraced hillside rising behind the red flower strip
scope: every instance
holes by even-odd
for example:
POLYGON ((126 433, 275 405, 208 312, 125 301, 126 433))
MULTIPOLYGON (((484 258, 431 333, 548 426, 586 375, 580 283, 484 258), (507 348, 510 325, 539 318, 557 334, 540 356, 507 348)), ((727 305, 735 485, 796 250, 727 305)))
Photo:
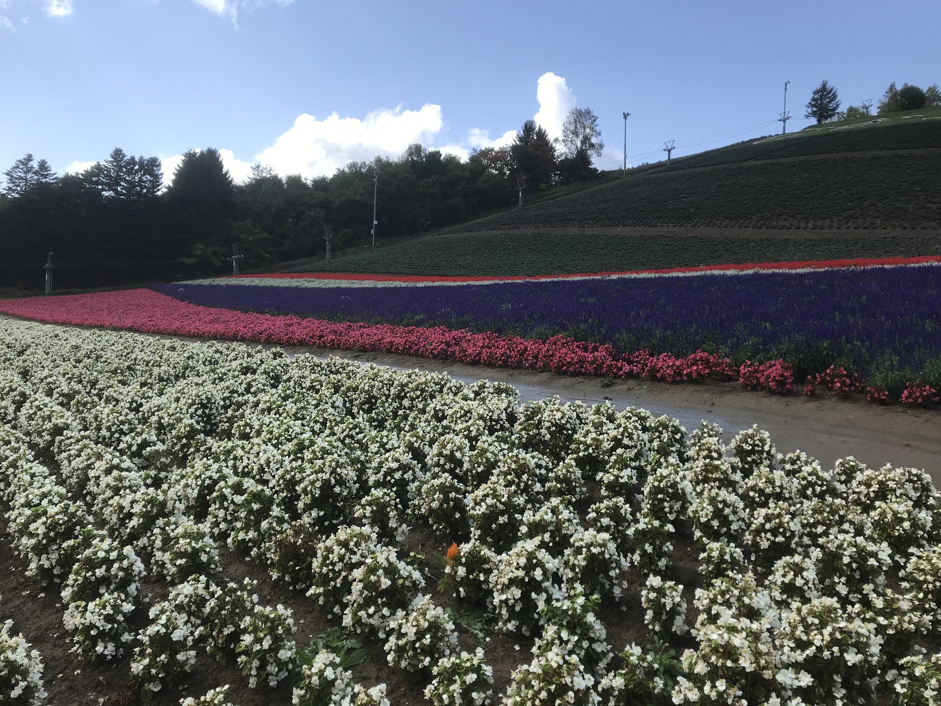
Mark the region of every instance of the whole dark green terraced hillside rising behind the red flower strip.
POLYGON ((287 271, 535 274, 941 252, 941 111, 638 168, 435 235, 287 271))

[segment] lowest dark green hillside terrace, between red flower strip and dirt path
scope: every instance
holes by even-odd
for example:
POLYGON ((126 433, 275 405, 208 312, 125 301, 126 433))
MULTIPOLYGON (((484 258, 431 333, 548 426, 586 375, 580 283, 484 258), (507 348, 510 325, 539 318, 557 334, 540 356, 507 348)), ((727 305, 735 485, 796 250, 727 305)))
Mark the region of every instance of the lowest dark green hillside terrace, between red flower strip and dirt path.
POLYGON ((301 261, 283 272, 415 275, 533 275, 724 263, 933 255, 931 234, 872 237, 699 237, 586 233, 483 233, 427 236, 352 252, 330 262, 301 261))

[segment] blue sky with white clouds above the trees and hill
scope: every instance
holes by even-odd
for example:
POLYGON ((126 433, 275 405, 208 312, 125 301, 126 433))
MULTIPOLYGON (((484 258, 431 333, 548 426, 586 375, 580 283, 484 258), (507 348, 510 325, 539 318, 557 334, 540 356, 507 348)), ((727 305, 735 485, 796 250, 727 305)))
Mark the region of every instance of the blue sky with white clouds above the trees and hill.
POLYGON ((517 3, 455 0, 0 0, 0 171, 26 152, 57 171, 115 147, 164 160, 215 147, 332 174, 408 144, 508 142, 534 118, 599 118, 599 168, 788 130, 827 79, 846 104, 891 81, 941 82, 941 3, 517 3))

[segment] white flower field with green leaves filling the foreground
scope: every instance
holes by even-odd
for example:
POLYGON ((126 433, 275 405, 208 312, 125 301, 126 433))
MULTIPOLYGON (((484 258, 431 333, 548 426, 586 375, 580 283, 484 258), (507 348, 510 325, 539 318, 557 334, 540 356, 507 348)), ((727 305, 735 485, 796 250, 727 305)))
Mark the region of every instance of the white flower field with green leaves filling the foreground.
POLYGON ((61 599, 54 635, 3 616, 5 702, 117 670, 184 706, 937 703, 922 471, 277 349, 0 335, 2 541, 61 599))

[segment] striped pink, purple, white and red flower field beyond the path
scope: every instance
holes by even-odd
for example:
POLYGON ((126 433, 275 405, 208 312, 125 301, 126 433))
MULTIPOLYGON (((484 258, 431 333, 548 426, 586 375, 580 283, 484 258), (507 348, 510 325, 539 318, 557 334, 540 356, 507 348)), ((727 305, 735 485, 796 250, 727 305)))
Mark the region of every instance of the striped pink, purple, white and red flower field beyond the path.
POLYGON ((937 257, 564 277, 274 275, 0 301, 65 324, 932 405, 937 257), (774 292, 774 297, 768 293, 774 292))

